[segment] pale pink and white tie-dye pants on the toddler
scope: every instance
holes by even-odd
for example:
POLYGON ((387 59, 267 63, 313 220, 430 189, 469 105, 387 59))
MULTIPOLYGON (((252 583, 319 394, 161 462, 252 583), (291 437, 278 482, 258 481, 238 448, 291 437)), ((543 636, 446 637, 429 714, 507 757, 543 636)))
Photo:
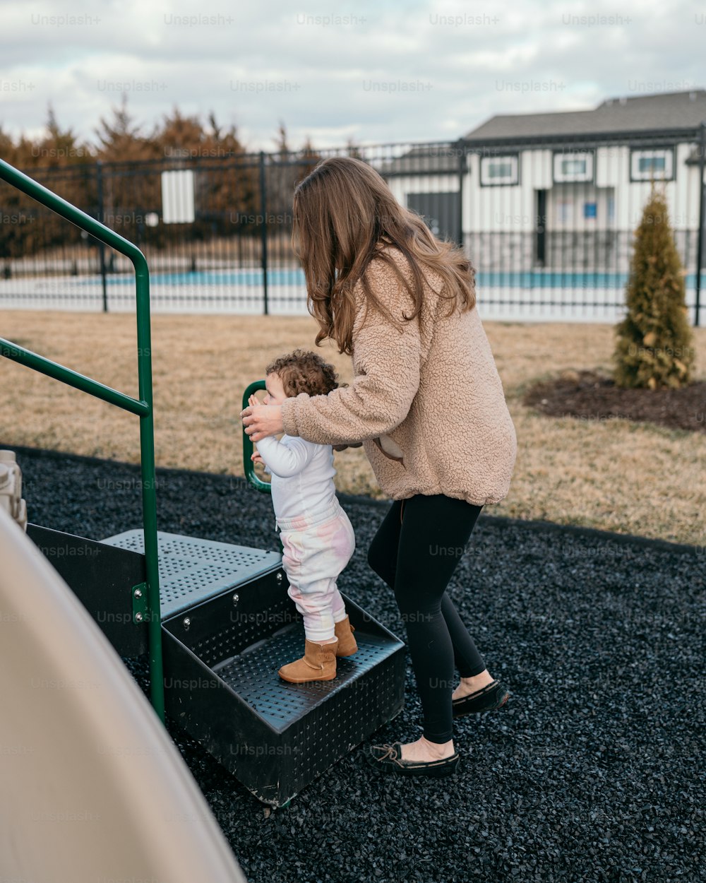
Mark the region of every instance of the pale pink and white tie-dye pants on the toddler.
POLYGON ((336 580, 356 550, 356 535, 340 503, 315 517, 278 518, 282 568, 289 598, 304 617, 310 641, 334 638, 334 623, 346 618, 336 580))

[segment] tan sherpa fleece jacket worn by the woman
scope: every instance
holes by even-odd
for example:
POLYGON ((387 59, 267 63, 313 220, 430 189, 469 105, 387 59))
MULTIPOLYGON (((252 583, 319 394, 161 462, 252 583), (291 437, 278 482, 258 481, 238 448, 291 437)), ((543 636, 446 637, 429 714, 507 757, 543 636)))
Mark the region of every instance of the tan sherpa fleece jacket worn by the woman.
MULTIPOLYGON (((388 253, 411 279, 402 253, 388 253)), ((379 486, 394 500, 446 494, 477 506, 499 502, 517 439, 477 308, 447 318, 442 280, 427 271, 424 306, 404 321, 414 302, 394 270, 373 258, 365 273, 401 329, 366 302, 358 282, 354 381, 327 396, 288 398, 284 432, 319 444, 363 442, 379 486)))

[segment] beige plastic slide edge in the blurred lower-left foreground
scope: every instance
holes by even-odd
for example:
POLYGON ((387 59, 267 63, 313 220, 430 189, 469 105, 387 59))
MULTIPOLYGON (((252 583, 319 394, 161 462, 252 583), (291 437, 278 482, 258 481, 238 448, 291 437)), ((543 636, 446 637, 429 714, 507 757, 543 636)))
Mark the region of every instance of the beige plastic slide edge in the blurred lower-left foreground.
POLYGON ((245 881, 169 734, 0 508, 0 879, 245 881))

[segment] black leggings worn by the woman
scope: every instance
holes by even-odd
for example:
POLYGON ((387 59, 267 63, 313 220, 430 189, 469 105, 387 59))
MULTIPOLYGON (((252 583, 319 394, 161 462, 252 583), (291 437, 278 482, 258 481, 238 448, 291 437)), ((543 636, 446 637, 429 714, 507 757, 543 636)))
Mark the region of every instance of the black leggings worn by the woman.
POLYGON ((394 590, 407 628, 430 742, 453 736, 454 663, 462 677, 485 668, 446 592, 481 509, 444 494, 395 500, 368 550, 368 563, 394 590))

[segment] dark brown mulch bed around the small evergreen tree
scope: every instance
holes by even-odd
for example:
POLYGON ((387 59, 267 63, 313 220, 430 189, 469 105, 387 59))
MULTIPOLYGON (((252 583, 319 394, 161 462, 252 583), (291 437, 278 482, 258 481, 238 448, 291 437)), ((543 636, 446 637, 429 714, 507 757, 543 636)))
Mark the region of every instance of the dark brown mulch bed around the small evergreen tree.
POLYGON ((627 419, 706 432, 706 382, 682 389, 621 389, 595 371, 564 371, 535 384, 523 404, 550 417, 627 419))

